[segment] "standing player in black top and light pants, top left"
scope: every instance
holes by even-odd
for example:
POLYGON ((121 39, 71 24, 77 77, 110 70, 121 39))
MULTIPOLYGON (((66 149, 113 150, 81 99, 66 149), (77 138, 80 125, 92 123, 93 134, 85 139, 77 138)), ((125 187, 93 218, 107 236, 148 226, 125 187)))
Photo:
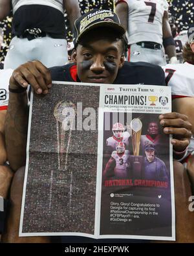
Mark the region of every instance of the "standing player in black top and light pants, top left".
POLYGON ((5 69, 15 69, 30 60, 40 60, 47 67, 67 62, 64 10, 73 29, 75 19, 81 16, 78 0, 0 0, 0 21, 11 8, 14 38, 5 57, 5 69))

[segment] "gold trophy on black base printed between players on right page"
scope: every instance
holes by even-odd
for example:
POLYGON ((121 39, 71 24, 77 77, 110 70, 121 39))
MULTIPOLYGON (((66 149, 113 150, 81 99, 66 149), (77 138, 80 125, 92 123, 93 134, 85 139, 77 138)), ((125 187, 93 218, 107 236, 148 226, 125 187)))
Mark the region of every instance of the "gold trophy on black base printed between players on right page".
POLYGON ((130 156, 133 178, 139 179, 142 177, 142 164, 143 156, 139 156, 140 152, 140 139, 142 134, 142 122, 140 119, 135 118, 130 123, 131 138, 133 145, 133 156, 130 156))

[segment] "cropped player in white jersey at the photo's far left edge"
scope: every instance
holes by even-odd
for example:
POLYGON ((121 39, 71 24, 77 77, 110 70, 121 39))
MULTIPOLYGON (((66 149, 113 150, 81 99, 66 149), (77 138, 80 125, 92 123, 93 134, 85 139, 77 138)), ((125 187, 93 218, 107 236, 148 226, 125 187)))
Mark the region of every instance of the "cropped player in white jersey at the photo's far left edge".
POLYGON ((13 176, 12 171, 6 165, 5 148, 5 116, 8 107, 8 85, 12 72, 12 69, 0 70, 0 240, 6 218, 6 198, 13 176))

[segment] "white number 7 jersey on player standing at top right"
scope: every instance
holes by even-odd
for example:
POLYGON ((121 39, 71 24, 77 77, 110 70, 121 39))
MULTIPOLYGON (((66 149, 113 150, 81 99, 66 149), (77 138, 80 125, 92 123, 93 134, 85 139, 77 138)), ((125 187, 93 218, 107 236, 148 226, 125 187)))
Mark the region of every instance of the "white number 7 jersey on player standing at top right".
POLYGON ((166 0, 118 0, 128 5, 129 45, 139 41, 154 41, 162 45, 162 19, 164 11, 168 10, 166 0))

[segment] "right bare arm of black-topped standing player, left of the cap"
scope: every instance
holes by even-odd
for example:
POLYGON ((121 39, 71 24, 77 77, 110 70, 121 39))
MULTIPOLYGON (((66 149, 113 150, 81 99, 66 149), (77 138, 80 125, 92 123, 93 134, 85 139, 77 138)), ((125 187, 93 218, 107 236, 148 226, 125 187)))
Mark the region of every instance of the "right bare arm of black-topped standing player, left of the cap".
POLYGON ((73 31, 74 21, 81 16, 78 0, 63 0, 63 6, 67 12, 70 22, 70 29, 73 31))

